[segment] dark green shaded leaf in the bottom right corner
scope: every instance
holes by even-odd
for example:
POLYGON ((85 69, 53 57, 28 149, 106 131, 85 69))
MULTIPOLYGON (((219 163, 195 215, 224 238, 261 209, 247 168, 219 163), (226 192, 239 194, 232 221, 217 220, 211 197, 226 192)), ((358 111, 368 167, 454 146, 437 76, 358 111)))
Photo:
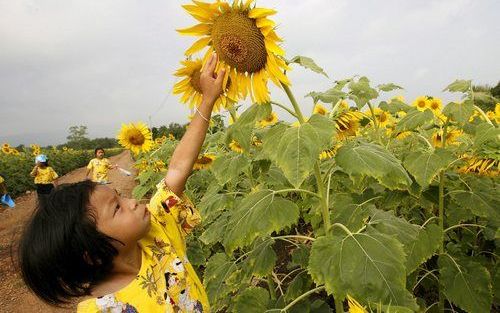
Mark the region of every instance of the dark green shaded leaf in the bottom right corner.
POLYGON ((440 282, 449 301, 467 312, 490 312, 493 294, 485 267, 449 254, 439 257, 438 266, 440 282))

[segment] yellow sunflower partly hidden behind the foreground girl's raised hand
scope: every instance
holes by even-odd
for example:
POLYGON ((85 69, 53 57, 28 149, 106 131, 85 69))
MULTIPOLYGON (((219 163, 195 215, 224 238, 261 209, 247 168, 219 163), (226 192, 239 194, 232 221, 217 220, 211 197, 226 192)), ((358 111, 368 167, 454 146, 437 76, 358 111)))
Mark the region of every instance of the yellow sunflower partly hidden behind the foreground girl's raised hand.
MULTIPOLYGON (((182 67, 175 72, 175 76, 184 77, 174 86, 174 94, 182 94, 181 102, 187 103, 190 109, 199 107, 202 99, 202 90, 200 85, 200 75, 202 62, 200 59, 194 61, 182 61, 182 67)), ((238 90, 231 86, 230 82, 226 84, 227 93, 221 94, 215 101, 214 110, 219 111, 222 107, 227 108, 238 99, 238 90), (232 87, 232 88, 231 88, 232 87)))

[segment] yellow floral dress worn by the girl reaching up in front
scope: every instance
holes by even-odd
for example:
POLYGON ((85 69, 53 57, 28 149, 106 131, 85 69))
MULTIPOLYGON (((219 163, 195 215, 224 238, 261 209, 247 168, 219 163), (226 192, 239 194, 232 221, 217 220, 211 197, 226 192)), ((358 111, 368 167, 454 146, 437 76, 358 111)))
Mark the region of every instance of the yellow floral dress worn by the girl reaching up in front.
POLYGON ((191 201, 162 180, 149 202, 151 230, 139 241, 142 264, 119 291, 78 304, 80 313, 209 312, 203 284, 186 257, 185 236, 201 222, 191 201))

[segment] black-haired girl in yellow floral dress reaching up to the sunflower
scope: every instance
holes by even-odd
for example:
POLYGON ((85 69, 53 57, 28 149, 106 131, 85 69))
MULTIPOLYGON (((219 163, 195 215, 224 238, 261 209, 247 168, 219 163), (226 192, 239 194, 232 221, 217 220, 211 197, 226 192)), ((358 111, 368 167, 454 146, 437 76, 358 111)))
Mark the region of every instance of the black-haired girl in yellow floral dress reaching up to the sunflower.
POLYGON ((58 187, 35 212, 19 257, 41 299, 58 305, 88 296, 78 312, 209 312, 186 257, 185 236, 200 215, 183 191, 221 93, 216 63, 214 55, 202 70, 203 101, 149 205, 84 181, 58 187))

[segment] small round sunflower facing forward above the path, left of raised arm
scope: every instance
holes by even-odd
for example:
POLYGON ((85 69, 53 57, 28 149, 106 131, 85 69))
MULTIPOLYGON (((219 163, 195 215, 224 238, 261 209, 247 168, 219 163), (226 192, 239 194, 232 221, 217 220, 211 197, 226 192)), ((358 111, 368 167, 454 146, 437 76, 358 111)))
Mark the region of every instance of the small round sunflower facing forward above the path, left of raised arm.
POLYGON ((122 124, 122 128, 116 138, 120 145, 135 154, 141 151, 149 151, 153 146, 151 131, 143 122, 130 123, 128 125, 122 124))

